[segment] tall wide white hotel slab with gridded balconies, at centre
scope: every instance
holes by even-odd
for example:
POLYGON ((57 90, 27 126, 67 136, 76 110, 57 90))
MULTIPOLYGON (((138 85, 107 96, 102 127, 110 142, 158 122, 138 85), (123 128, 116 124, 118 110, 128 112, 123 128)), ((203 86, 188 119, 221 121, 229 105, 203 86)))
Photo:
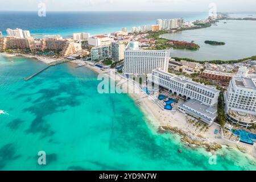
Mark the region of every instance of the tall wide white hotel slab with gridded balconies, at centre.
POLYGON ((139 49, 138 42, 130 42, 125 50, 123 73, 127 75, 146 75, 153 69, 168 71, 170 51, 139 49))

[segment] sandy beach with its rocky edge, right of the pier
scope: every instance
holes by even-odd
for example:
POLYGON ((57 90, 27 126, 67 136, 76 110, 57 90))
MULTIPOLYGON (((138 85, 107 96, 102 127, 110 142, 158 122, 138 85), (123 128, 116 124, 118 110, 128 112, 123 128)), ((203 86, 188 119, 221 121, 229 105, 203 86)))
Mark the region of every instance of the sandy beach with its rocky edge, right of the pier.
MULTIPOLYGON (((76 63, 76 61, 73 63, 76 63)), ((128 88, 128 93, 141 108, 152 125, 155 127, 160 127, 162 131, 164 131, 166 128, 172 128, 171 132, 180 134, 181 137, 184 137, 183 139, 186 140, 183 141, 187 143, 188 146, 204 148, 208 147, 208 149, 210 148, 209 151, 211 152, 217 152, 218 146, 232 147, 234 150, 240 150, 241 152, 250 154, 256 158, 256 149, 254 146, 249 146, 241 142, 229 142, 228 140, 221 138, 220 132, 218 132, 218 134, 214 134, 214 130, 217 129, 220 131, 220 126, 217 123, 213 123, 213 125, 210 126, 209 130, 206 132, 200 131, 197 129, 197 127, 189 124, 187 121, 189 118, 186 118, 183 113, 180 113, 179 111, 168 111, 161 108, 156 103, 157 97, 148 96, 145 92, 142 91, 137 82, 127 80, 127 78, 115 72, 113 69, 102 71, 102 69, 94 67, 93 65, 85 65, 85 67, 90 68, 99 74, 105 73, 116 82, 121 81, 122 86, 128 88), (193 142, 189 143, 189 140, 192 140, 193 142)))

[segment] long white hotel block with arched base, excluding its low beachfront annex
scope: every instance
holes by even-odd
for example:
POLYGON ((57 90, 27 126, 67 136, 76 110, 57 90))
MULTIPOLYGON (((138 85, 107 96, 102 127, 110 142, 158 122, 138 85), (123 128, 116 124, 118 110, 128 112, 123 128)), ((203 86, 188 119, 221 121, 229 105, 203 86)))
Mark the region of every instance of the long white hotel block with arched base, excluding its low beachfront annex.
POLYGON ((152 71, 149 81, 184 98, 198 100, 207 106, 217 104, 220 94, 220 90, 217 90, 215 86, 200 84, 192 81, 191 78, 177 76, 160 69, 152 71))

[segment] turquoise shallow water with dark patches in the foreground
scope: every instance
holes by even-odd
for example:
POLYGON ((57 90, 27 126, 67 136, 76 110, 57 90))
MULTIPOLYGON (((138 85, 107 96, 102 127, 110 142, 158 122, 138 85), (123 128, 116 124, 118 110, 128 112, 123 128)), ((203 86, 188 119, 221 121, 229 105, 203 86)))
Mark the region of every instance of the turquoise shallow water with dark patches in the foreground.
POLYGON ((204 149, 156 126, 127 94, 99 94, 97 74, 72 64, 51 67, 24 57, 0 56, 1 170, 256 170, 236 150, 204 149), (177 150, 183 149, 182 153, 177 150), (38 165, 38 151, 47 165, 38 165))

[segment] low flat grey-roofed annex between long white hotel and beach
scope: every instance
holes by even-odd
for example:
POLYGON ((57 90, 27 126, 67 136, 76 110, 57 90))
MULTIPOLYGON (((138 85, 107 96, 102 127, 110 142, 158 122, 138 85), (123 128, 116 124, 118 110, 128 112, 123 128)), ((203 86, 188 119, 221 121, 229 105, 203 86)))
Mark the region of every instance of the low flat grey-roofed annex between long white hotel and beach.
POLYGON ((192 115, 197 119, 200 118, 199 121, 208 126, 212 125, 217 117, 217 105, 208 106, 196 99, 184 102, 184 104, 178 106, 178 109, 181 113, 192 115))

